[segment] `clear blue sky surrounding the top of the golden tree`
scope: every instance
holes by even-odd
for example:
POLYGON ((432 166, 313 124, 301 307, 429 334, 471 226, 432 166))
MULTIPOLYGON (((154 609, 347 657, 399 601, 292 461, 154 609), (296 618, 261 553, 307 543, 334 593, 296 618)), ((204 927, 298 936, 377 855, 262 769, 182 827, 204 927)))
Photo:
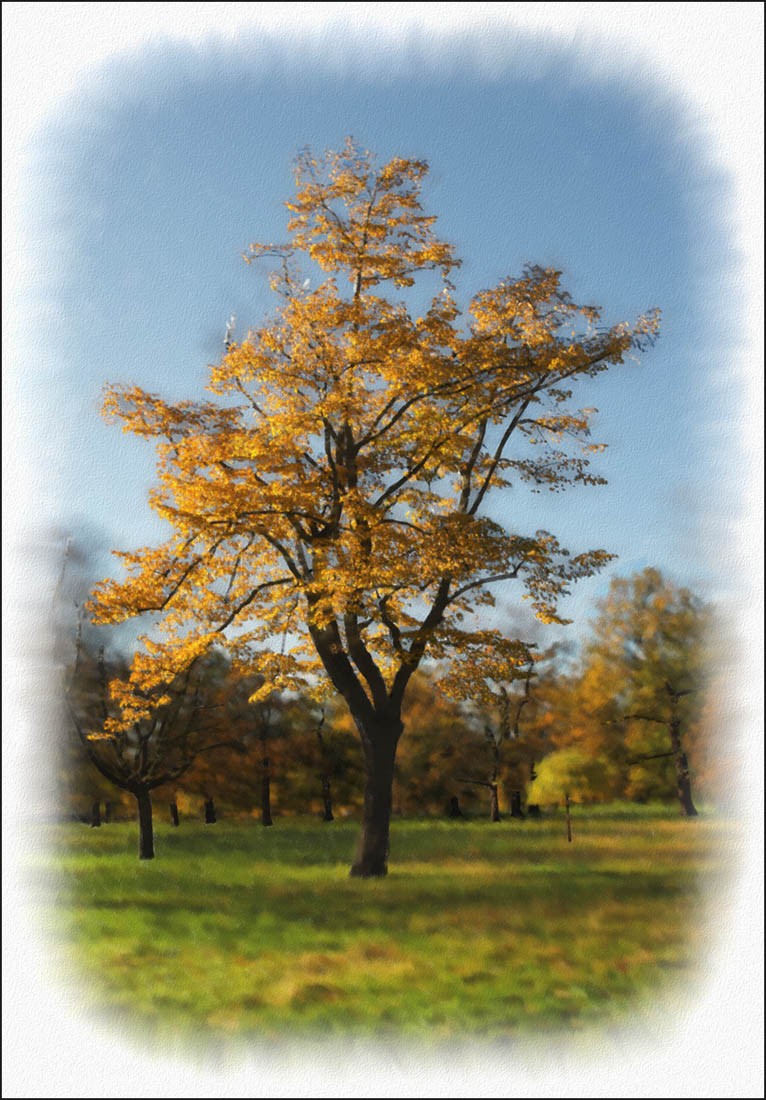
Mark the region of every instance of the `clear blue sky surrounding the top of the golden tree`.
MULTIPOLYGON (((152 450, 101 421, 101 387, 203 396, 230 314, 242 332, 272 307, 265 268, 240 254, 285 237, 293 157, 351 134, 382 160, 428 161, 425 206, 463 260, 461 304, 529 261, 561 268, 608 322, 661 308, 656 348, 573 398, 600 410, 594 439, 609 449, 594 468, 609 485, 521 486, 490 510, 572 552, 619 556, 562 604, 577 635, 615 572, 656 565, 714 594, 705 515, 724 466, 711 405, 726 367, 710 352, 729 336, 714 304, 733 255, 720 219, 727 183, 688 108, 650 80, 597 79, 574 54, 510 31, 491 65, 469 36, 438 64, 417 36, 341 70, 319 54, 304 64, 247 33, 234 48, 164 43, 107 63, 39 134, 23 413, 58 472, 58 524, 100 529, 99 549, 164 537, 146 504, 152 450)), ((100 554, 96 568, 116 566, 100 554)), ((518 595, 502 593, 512 615, 518 595)))

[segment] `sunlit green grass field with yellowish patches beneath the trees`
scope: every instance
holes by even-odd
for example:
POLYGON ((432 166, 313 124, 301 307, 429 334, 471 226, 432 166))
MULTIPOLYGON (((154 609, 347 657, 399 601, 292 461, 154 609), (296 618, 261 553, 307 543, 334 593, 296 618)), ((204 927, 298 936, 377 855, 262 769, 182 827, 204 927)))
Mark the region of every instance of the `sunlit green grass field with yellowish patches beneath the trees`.
POLYGON ((160 1038, 588 1030, 704 970, 735 843, 672 807, 578 809, 572 844, 562 814, 402 821, 389 877, 358 880, 358 827, 160 823, 139 862, 136 825, 51 826, 44 923, 83 998, 160 1038))

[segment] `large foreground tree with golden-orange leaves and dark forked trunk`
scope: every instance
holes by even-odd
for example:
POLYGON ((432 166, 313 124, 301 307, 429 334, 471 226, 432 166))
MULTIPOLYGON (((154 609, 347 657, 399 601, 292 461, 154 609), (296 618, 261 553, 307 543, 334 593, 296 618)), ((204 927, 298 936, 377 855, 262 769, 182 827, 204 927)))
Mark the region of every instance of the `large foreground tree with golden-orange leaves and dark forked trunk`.
POLYGON ((505 675, 526 660, 523 645, 477 626, 493 585, 517 579, 537 616, 560 623, 568 585, 610 560, 572 557, 545 530, 506 530, 486 515, 490 495, 511 479, 550 491, 602 482, 589 470, 602 450, 589 441, 593 410, 569 409, 570 387, 658 328, 656 311, 602 326, 559 272, 537 266, 477 294, 460 322, 459 261, 420 204, 427 172, 402 157, 379 167, 351 140, 302 153, 288 242, 245 256, 276 260, 280 305, 241 342, 230 333, 211 371, 219 400, 171 405, 110 386, 105 402, 123 430, 156 441, 151 503, 174 535, 122 554, 128 576, 98 586, 97 619, 161 612, 151 656, 176 671, 237 628, 229 645, 264 691, 324 673, 364 754, 351 868, 362 877, 386 872, 402 707, 424 659, 449 659, 448 690, 470 695, 494 662, 505 675), (429 272, 441 289, 413 316, 409 288, 433 284, 429 272))

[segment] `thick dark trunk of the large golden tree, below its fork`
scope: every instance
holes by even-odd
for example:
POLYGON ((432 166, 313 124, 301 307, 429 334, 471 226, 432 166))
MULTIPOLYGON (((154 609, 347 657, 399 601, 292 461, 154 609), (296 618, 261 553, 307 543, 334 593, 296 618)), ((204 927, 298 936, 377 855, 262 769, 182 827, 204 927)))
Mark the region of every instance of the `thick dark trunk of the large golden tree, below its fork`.
POLYGON ((394 793, 394 759, 402 734, 397 721, 375 730, 362 730, 366 766, 362 832, 351 865, 353 878, 379 878, 389 871, 389 832, 394 793))

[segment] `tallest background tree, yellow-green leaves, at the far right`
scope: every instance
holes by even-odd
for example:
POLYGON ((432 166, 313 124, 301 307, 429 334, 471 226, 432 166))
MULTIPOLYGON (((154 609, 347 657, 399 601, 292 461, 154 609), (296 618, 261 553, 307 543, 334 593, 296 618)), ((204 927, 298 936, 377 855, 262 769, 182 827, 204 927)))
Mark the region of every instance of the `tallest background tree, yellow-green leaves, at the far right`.
MULTIPOLYGON (((614 578, 599 607, 587 660, 591 675, 611 698, 616 715, 612 722, 630 724, 628 767, 645 772, 656 767, 650 762, 671 760, 681 814, 696 817, 682 741, 703 703, 709 609, 689 588, 676 587, 656 569, 614 578)), ((632 777, 634 787, 637 778, 632 777)))

